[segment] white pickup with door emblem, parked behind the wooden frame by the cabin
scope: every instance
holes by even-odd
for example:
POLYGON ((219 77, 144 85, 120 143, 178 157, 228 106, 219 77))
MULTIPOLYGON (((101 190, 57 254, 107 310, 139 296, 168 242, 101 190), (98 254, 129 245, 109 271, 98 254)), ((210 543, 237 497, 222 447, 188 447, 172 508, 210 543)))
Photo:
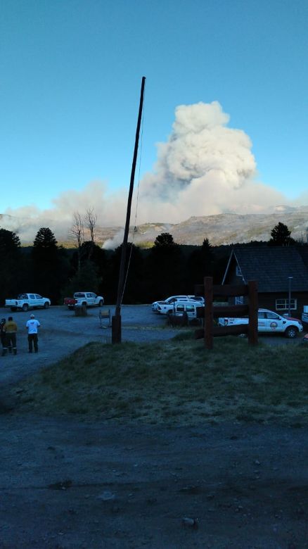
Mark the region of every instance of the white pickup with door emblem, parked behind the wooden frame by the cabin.
MULTIPOLYGON (((219 326, 233 326, 233 324, 248 324, 248 317, 218 319, 219 326)), ((298 332, 302 332, 302 322, 297 318, 281 317, 268 309, 258 310, 258 332, 284 334, 285 337, 294 338, 298 332)))

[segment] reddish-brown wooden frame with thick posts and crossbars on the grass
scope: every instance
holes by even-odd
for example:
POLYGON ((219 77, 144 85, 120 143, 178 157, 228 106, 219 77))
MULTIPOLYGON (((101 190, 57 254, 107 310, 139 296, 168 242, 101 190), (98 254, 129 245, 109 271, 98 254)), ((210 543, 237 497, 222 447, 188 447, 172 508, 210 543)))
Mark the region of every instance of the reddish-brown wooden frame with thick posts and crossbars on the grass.
POLYGON ((196 339, 205 339, 205 347, 213 348, 214 336, 227 336, 248 334, 248 342, 250 345, 258 343, 258 301, 257 301, 257 282, 250 280, 248 284, 240 284, 229 286, 225 284, 214 285, 212 277, 205 277, 204 286, 195 286, 195 294, 205 297, 204 308, 204 328, 195 331, 196 339), (222 297, 226 301, 229 297, 247 296, 247 305, 213 305, 214 297, 222 297), (248 324, 234 324, 233 326, 214 326, 214 318, 231 317, 239 318, 248 315, 248 324))

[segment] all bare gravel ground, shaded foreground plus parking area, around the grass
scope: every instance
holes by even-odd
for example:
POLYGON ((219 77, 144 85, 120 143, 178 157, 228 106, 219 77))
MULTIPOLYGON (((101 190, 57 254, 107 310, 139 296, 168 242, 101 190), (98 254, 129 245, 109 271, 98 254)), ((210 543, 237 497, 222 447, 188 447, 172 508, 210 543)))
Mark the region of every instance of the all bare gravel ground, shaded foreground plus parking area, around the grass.
MULTIPOLYGON (((172 334, 135 311, 124 318, 128 339, 172 334)), ((25 374, 108 334, 97 310, 36 315, 40 351, 28 355, 19 336, 18 355, 0 361, 0 402, 25 374)), ((28 316, 14 315, 20 332, 28 316)), ((0 549, 308 548, 306 427, 86 422, 21 417, 5 404, 0 549)))

